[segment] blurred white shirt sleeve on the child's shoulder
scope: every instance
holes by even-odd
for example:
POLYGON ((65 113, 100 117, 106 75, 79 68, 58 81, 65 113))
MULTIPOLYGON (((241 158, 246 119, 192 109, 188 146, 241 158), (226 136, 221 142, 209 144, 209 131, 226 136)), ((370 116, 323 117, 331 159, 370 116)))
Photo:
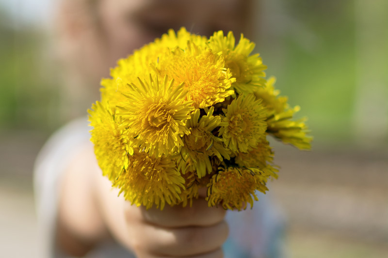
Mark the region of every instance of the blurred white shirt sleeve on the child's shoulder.
POLYGON ((89 141, 87 118, 70 122, 56 132, 39 152, 34 166, 34 193, 39 243, 46 258, 65 258, 55 246, 59 186, 69 161, 89 141))

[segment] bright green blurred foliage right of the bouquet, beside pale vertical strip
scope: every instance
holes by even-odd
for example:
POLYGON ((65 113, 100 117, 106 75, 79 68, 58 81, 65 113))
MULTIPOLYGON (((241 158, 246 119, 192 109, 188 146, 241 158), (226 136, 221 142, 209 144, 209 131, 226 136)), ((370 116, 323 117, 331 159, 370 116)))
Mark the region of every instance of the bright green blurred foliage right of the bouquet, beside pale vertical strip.
POLYGON ((289 96, 291 105, 302 107, 299 113, 308 117, 315 139, 351 140, 356 89, 354 3, 283 2, 297 23, 289 25, 279 39, 285 55, 279 57, 271 42, 264 40, 259 51, 268 74, 277 77, 276 85, 289 96))

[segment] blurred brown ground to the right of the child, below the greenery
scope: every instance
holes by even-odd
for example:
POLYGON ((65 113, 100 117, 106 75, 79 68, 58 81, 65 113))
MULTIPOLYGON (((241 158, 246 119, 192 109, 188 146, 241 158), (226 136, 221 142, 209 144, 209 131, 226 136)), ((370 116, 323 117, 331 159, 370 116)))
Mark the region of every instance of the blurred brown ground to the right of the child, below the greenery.
POLYGON ((269 188, 288 217, 291 257, 388 257, 387 151, 276 147, 282 168, 269 188))

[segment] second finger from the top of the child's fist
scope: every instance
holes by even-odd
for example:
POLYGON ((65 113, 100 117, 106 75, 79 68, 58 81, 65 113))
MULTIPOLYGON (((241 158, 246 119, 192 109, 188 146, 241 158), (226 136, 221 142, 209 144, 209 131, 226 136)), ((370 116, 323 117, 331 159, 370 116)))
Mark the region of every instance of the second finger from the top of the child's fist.
POLYGON ((199 256, 212 252, 222 246, 228 234, 225 221, 210 227, 191 228, 157 228, 147 225, 142 230, 143 233, 133 243, 135 250, 160 257, 199 256))

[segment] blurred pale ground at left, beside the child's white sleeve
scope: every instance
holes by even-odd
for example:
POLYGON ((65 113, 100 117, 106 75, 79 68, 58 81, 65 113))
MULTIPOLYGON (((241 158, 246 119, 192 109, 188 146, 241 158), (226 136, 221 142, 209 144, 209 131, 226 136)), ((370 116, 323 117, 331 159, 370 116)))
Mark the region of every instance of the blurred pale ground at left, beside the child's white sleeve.
POLYGON ((1 257, 42 258, 32 191, 32 166, 45 138, 26 132, 0 134, 1 257))

